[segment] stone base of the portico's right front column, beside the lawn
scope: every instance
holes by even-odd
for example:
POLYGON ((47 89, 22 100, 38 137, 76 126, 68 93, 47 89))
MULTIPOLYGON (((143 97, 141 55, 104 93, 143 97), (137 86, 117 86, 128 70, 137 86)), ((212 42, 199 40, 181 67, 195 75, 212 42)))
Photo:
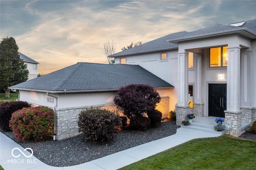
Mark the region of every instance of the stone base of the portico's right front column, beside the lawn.
POLYGON ((242 126, 241 126, 241 112, 235 111, 224 111, 225 112, 225 125, 230 125, 231 128, 228 130, 225 127, 226 134, 231 136, 240 136, 242 134, 242 126))

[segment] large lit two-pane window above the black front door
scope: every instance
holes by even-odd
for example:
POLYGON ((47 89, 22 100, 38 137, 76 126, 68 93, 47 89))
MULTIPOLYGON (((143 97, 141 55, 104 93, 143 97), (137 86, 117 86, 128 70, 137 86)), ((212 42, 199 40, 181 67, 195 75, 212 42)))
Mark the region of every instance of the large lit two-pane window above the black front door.
POLYGON ((226 67, 227 63, 227 46, 210 48, 210 67, 226 67))

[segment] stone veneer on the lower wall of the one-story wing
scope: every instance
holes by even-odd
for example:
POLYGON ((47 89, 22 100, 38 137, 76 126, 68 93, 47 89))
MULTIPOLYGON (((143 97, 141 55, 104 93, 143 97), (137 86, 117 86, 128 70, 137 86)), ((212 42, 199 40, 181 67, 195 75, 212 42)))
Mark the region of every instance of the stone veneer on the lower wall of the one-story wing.
MULTIPOLYGON (((66 138, 71 138, 80 134, 78 132, 78 115, 83 110, 90 106, 84 107, 71 107, 64 109, 56 109, 56 140, 62 140, 66 138)), ((111 111, 117 111, 116 105, 107 104, 107 105, 96 105, 93 107, 102 107, 111 111)), ((169 97, 163 97, 161 102, 158 103, 156 109, 162 112, 162 117, 167 117, 170 108, 170 99, 169 97)), ((122 114, 120 113, 122 116, 122 114)))

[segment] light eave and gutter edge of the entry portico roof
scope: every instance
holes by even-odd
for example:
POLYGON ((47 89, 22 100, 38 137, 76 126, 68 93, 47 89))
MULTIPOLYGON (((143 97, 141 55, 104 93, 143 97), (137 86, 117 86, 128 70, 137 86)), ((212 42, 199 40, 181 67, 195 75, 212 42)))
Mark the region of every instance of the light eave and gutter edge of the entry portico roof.
POLYGON ((183 42, 183 41, 187 41, 187 40, 198 40, 201 38, 209 38, 212 36, 222 36, 222 35, 227 35, 230 33, 233 34, 233 33, 239 33, 239 32, 246 32, 246 33, 250 34, 251 36, 253 36, 254 38, 256 38, 256 33, 252 32, 251 30, 248 30, 247 28, 241 28, 239 30, 228 30, 228 31, 222 31, 222 32, 214 32, 214 33, 200 35, 200 36, 177 38, 177 39, 172 39, 172 40, 167 40, 167 41, 170 43, 178 44, 178 42, 183 42))

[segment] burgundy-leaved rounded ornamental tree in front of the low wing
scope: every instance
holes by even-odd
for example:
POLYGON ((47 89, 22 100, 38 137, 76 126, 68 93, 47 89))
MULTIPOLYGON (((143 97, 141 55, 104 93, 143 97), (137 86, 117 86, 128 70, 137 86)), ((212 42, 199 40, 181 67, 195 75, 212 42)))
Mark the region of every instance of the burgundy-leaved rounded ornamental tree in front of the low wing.
POLYGON ((133 119, 153 111, 160 100, 159 93, 152 86, 132 84, 118 90, 114 103, 124 115, 133 119))

